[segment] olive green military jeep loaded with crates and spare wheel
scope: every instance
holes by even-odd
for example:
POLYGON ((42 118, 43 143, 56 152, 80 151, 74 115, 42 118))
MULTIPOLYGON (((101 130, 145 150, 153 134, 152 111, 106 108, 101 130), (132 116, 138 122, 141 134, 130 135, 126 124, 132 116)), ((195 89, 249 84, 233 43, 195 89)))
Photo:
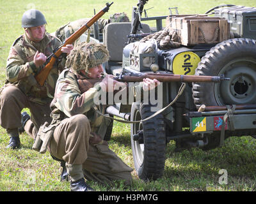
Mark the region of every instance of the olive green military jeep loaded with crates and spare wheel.
MULTIPOLYGON (((177 150, 209 150, 221 147, 230 136, 255 137, 256 8, 221 5, 204 15, 180 15, 177 8, 170 8, 170 15, 148 17, 143 10, 146 3, 139 1, 138 7, 133 8, 131 23, 111 23, 104 28, 102 39, 110 54, 110 61, 105 64, 107 73, 120 77, 173 73, 229 78, 220 83, 163 82, 156 100, 161 103, 158 109, 143 99, 107 109, 110 115, 124 120, 145 119, 170 105, 180 85, 186 84, 179 98, 163 112, 131 124, 132 154, 138 176, 156 180, 163 175, 166 144, 170 140, 175 140, 177 150), (156 20, 156 27, 143 24, 144 20, 156 20), (158 46, 151 53, 134 52, 136 42, 146 43, 147 36, 166 27, 175 31, 175 42, 179 45, 158 46)), ((135 91, 136 94, 139 93, 135 91)))

